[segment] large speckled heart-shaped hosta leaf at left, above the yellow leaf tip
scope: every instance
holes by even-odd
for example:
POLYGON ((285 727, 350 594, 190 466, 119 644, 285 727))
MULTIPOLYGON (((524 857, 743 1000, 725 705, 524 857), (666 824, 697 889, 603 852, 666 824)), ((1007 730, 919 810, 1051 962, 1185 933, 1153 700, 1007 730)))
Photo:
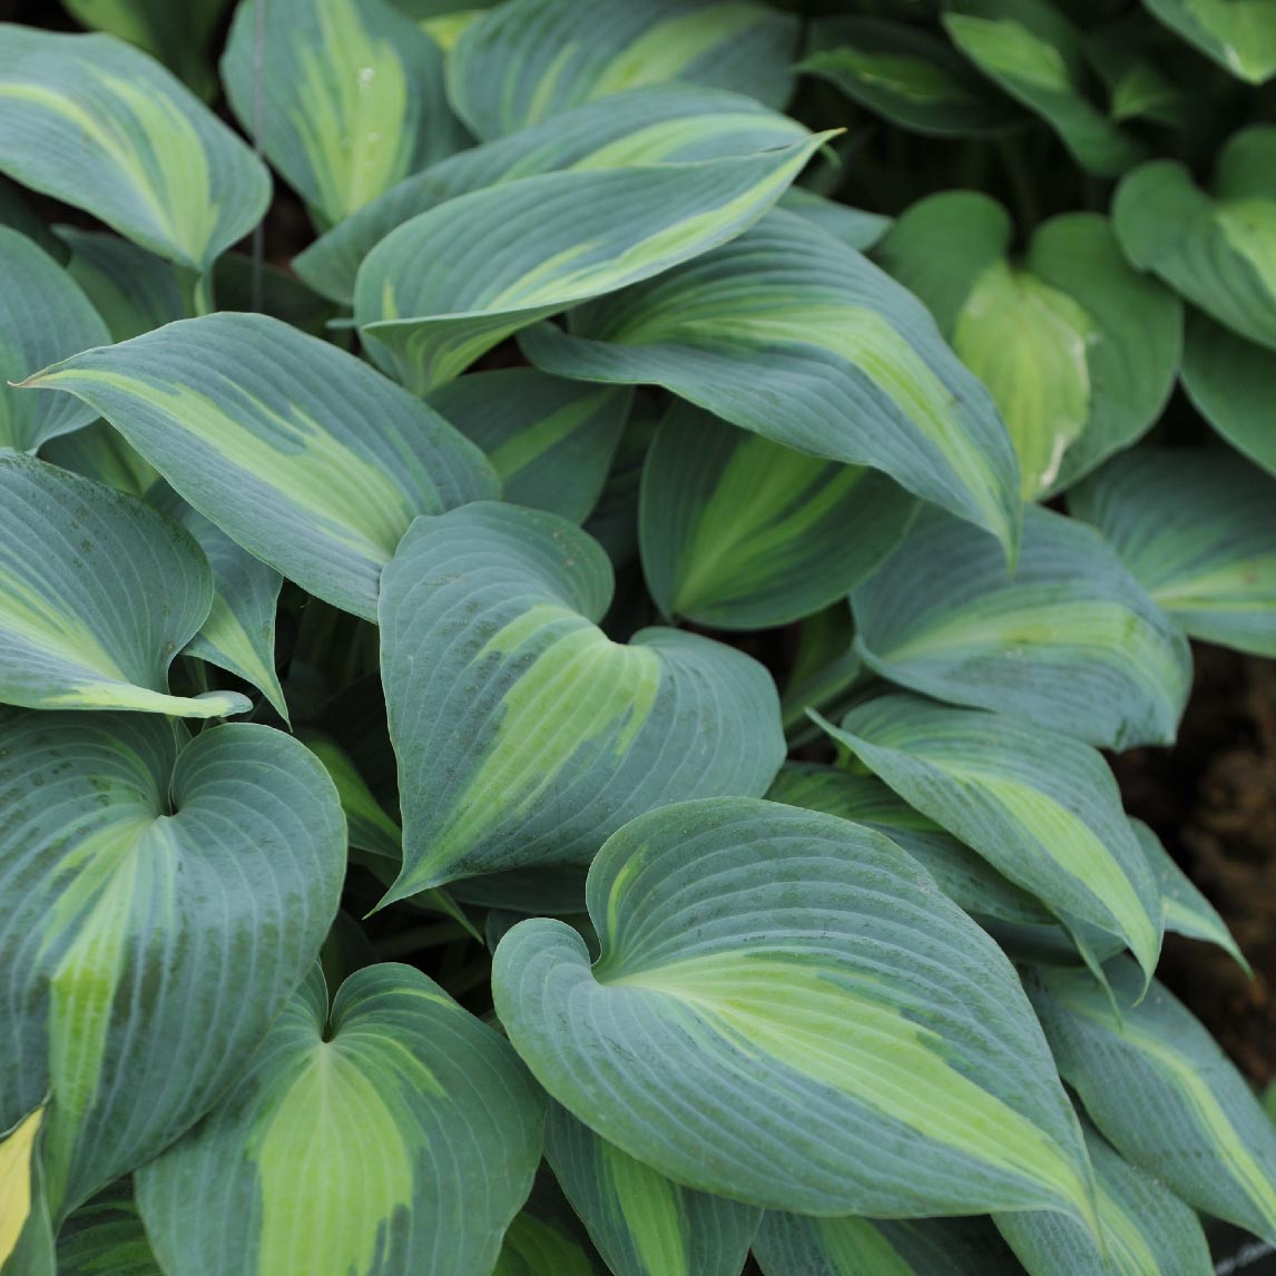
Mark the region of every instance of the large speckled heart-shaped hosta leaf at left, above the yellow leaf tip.
POLYGON ((345 822, 319 763, 235 723, 0 723, 0 1124, 52 1094, 55 1217, 195 1122, 319 952, 345 822), (211 1048, 216 1044, 216 1049, 211 1048))

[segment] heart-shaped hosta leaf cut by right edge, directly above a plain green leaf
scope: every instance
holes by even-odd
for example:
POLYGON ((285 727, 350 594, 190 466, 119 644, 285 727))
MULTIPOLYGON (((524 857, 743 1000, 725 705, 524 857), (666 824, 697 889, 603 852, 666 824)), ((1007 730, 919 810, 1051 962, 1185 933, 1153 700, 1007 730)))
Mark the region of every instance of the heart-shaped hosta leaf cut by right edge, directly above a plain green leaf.
POLYGON ((1230 138, 1210 193, 1173 160, 1143 165, 1116 188, 1113 227, 1138 269, 1248 341, 1276 347, 1276 128, 1230 138))

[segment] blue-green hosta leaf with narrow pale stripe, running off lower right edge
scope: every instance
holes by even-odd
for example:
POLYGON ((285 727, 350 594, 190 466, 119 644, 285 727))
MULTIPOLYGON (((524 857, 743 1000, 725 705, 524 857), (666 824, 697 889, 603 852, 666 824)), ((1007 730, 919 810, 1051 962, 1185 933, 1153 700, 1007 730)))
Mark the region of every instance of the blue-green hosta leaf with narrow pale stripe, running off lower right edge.
POLYGON ((1133 965, 1105 971, 1115 1007, 1083 971, 1030 984, 1059 1072, 1124 1157, 1198 1210, 1276 1239, 1276 1127, 1166 989, 1154 983, 1138 1002, 1133 965))

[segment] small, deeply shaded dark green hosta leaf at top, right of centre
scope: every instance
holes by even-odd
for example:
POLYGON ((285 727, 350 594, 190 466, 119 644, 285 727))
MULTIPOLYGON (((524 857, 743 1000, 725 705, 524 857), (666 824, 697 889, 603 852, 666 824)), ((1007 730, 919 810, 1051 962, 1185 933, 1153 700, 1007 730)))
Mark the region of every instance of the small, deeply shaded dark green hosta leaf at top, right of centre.
POLYGON ((823 18, 799 69, 891 124, 933 137, 977 137, 1022 112, 939 36, 883 18, 823 18))

